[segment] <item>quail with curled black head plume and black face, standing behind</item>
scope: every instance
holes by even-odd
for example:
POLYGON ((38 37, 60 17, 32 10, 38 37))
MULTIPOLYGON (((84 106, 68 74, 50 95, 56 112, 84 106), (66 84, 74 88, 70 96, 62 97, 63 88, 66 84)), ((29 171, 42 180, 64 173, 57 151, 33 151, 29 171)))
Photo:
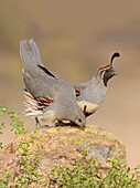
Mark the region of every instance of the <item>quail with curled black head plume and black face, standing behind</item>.
POLYGON ((101 66, 90 81, 74 85, 78 106, 83 112, 85 111, 86 117, 95 113, 103 104, 107 93, 107 83, 114 75, 117 75, 112 67, 112 61, 119 55, 118 52, 115 53, 110 64, 101 66))

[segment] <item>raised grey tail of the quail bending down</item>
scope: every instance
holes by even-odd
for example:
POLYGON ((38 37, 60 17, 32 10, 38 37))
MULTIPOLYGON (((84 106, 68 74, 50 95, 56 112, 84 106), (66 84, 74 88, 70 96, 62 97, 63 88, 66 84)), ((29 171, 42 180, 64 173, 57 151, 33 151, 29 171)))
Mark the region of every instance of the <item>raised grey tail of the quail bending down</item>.
POLYGON ((33 39, 20 42, 20 54, 25 67, 33 64, 43 65, 39 49, 33 39))

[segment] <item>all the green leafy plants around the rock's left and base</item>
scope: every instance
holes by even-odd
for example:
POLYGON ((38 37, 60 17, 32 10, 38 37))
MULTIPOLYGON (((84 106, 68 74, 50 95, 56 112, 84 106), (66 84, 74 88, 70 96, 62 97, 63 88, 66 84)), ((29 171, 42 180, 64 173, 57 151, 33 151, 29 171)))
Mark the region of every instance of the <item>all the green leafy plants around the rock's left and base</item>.
MULTIPOLYGON (((18 164, 20 169, 14 171, 10 168, 4 168, 0 171, 0 188, 28 188, 28 187, 95 187, 95 188, 137 188, 140 187, 140 166, 130 169, 127 161, 122 158, 120 160, 111 159, 105 167, 90 158, 87 152, 83 150, 83 161, 76 165, 54 167, 49 177, 42 175, 39 170, 41 163, 41 153, 43 146, 37 146, 36 130, 26 136, 28 130, 23 126, 23 122, 19 119, 19 114, 9 108, 0 107, 1 117, 8 114, 11 118, 11 130, 21 136, 17 147, 18 164), (35 147, 32 147, 33 143, 35 147)), ((4 128, 4 123, 0 125, 0 134, 4 128)), ((0 144, 2 147, 2 143, 0 144)))

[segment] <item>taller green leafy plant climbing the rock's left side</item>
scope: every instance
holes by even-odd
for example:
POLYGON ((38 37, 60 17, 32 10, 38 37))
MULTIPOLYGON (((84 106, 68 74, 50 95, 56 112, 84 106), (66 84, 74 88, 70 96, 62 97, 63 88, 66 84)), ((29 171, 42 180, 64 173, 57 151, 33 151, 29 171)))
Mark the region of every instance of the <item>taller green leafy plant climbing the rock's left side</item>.
MULTIPOLYGON (((20 164, 20 170, 19 171, 10 171, 8 168, 4 168, 3 171, 0 171, 0 188, 8 187, 9 184, 15 188, 19 187, 35 187, 35 185, 42 185, 45 179, 42 175, 39 173, 39 165, 40 165, 40 156, 42 147, 37 147, 34 149, 31 149, 31 145, 33 142, 35 142, 35 133, 33 135, 30 135, 26 137, 28 130, 23 127, 23 122, 19 119, 19 113, 15 113, 14 111, 9 111, 9 108, 0 108, 0 114, 3 116, 3 114, 7 113, 10 115, 11 118, 11 126, 12 132, 15 135, 21 135, 22 139, 19 140, 15 150, 18 152, 19 156, 19 164, 20 164)), ((1 124, 1 128, 3 128, 4 123, 1 124)), ((2 145, 2 144, 1 144, 2 145)))

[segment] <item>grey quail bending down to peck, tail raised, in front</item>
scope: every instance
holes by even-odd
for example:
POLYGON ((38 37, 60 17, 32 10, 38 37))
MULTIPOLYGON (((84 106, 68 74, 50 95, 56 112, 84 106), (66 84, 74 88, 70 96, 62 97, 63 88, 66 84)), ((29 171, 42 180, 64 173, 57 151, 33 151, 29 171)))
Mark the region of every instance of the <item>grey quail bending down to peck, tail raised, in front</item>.
POLYGON ((35 117, 36 128, 40 121, 50 127, 58 121, 71 121, 84 129, 86 117, 77 105, 73 85, 44 67, 33 39, 20 42, 20 55, 24 64, 25 115, 35 117))

